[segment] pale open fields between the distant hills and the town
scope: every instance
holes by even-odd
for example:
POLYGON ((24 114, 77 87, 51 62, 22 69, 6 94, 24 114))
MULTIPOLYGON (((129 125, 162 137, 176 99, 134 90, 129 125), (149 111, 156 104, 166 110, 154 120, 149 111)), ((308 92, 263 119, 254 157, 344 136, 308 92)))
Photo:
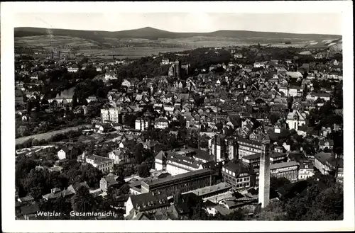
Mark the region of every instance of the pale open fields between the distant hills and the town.
POLYGON ((97 40, 70 36, 28 36, 15 38, 15 47, 43 47, 44 50, 60 50, 67 52, 75 47, 76 52, 92 57, 139 58, 148 55, 158 55, 159 52, 181 52, 197 47, 229 47, 243 45, 271 45, 275 47, 306 47, 312 43, 322 42, 322 39, 307 40, 302 38, 220 38, 194 36, 191 38, 159 38, 148 40, 141 38, 99 38, 97 40), (290 45, 285 45, 290 41, 290 45), (107 46, 114 46, 107 48, 107 46))

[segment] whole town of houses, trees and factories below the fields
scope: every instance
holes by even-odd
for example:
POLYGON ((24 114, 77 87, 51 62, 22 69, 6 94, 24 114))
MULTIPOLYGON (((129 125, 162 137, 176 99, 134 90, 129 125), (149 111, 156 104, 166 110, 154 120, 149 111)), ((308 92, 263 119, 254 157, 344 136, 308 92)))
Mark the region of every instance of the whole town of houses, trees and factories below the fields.
POLYGON ((20 48, 15 67, 18 220, 343 218, 342 52, 20 48))

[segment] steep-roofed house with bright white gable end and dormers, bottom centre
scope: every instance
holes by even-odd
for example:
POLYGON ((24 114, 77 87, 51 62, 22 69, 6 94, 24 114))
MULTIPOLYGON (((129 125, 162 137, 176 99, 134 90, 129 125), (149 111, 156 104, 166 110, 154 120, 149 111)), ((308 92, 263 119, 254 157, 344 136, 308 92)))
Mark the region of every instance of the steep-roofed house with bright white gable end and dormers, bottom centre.
POLYGON ((168 198, 163 193, 142 193, 131 195, 126 202, 126 216, 133 211, 153 213, 158 210, 166 210, 170 206, 168 198))

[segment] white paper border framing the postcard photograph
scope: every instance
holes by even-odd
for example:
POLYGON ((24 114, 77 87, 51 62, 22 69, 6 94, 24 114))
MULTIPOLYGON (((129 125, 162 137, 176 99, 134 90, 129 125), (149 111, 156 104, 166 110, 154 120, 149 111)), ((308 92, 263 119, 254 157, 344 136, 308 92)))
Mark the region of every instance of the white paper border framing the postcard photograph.
MULTIPOLYGON (((282 19, 280 19, 282 20, 282 19)), ((5 2, 1 3, 1 194, 4 232, 278 232, 354 230, 354 72, 352 1, 271 2, 5 2), (200 221, 16 221, 14 220, 14 13, 30 12, 225 12, 342 13, 344 46, 344 221, 200 222, 200 221)))

